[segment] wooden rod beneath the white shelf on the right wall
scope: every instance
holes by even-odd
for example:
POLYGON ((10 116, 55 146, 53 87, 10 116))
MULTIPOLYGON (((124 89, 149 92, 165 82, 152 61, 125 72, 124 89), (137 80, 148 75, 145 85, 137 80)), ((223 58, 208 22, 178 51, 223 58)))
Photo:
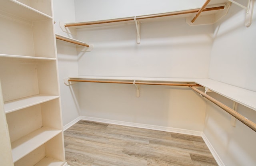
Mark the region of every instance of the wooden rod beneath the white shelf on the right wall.
POLYGON ((252 130, 256 131, 256 123, 248 120, 247 118, 245 118, 241 114, 237 113, 230 107, 228 107, 228 106, 224 105, 223 103, 221 103, 220 101, 210 97, 206 93, 198 90, 196 87, 190 87, 190 88, 193 89, 194 91, 196 91, 197 93, 201 94, 202 96, 204 96, 206 99, 210 100, 212 103, 218 105, 220 108, 224 109, 224 111, 226 111, 227 113, 229 113, 230 115, 232 115, 233 117, 235 117, 236 119, 238 119, 239 121, 244 123, 246 126, 250 127, 252 130))

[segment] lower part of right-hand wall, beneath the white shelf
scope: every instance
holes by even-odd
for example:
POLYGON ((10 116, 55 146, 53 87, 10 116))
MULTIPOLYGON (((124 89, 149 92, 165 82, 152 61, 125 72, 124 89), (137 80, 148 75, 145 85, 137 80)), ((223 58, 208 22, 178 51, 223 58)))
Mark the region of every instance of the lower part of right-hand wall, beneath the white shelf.
MULTIPOLYGON (((208 94, 232 108, 233 101, 216 93, 208 94)), ((238 105, 238 113, 256 122, 255 111, 238 105)), ((222 165, 253 166, 256 164, 256 132, 238 120, 233 127, 231 119, 231 115, 207 101, 204 134, 222 160, 222 165)))

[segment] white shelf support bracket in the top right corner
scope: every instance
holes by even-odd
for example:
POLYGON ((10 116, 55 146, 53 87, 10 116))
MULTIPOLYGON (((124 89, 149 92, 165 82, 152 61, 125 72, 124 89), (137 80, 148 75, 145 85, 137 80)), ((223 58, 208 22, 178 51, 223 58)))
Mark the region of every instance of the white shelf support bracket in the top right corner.
POLYGON ((254 0, 248 0, 248 6, 247 7, 242 5, 242 4, 239 4, 238 2, 236 2, 234 0, 228 0, 228 1, 232 2, 233 4, 236 4, 236 5, 240 6, 241 8, 246 10, 244 25, 246 27, 249 27, 252 24, 252 13, 253 13, 254 0))

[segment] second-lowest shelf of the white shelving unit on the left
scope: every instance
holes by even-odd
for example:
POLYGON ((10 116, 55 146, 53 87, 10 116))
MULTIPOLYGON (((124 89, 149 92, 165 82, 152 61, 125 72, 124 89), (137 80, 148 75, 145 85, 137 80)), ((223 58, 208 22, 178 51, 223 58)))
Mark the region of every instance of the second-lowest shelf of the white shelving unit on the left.
POLYGON ((26 156, 60 132, 62 132, 62 130, 56 130, 50 127, 42 127, 12 142, 11 145, 13 162, 16 162, 22 157, 26 156))

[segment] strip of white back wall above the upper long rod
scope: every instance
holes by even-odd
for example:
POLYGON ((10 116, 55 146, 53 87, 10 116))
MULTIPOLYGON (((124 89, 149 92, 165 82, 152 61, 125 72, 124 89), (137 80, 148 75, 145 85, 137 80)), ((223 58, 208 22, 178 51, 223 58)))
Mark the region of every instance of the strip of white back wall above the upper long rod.
MULTIPOLYGON (((205 0, 75 0, 76 22, 134 17, 201 8, 205 0)), ((218 4, 220 0, 209 3, 218 4)))

